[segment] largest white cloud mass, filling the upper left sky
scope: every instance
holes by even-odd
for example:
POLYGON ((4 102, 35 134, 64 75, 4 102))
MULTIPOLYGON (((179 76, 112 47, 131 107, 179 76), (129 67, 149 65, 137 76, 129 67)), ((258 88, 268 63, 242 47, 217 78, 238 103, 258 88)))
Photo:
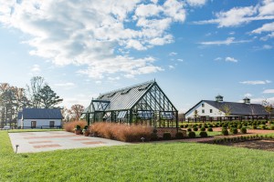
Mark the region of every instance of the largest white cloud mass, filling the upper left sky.
POLYGON ((129 49, 173 43, 169 28, 184 19, 179 0, 0 0, 0 23, 30 37, 24 42, 33 47, 30 55, 58 66, 86 66, 78 73, 96 79, 163 70, 147 57, 130 56, 129 49))

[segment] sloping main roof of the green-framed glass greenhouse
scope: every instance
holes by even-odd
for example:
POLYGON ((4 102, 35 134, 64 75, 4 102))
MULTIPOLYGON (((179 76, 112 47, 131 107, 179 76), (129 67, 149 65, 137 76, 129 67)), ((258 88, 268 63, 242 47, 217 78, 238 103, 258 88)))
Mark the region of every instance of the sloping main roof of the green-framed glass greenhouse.
POLYGON ((128 110, 134 106, 155 81, 145 82, 101 94, 96 100, 110 101, 107 110, 128 110))

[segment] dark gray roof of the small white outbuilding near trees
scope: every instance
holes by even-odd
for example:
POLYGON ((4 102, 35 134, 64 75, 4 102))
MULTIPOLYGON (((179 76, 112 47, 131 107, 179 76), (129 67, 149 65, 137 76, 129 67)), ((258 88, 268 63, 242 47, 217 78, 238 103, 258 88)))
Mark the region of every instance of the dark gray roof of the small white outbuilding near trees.
POLYGON ((60 109, 57 109, 57 108, 23 108, 22 115, 23 115, 23 119, 62 119, 63 118, 60 109))

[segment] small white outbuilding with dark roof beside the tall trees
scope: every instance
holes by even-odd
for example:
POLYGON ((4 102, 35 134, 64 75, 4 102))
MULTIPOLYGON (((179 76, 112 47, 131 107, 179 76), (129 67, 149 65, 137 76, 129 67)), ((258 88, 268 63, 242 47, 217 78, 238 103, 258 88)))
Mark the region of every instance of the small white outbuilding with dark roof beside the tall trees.
POLYGON ((57 108, 23 108, 17 116, 18 128, 61 127, 62 114, 57 108))

